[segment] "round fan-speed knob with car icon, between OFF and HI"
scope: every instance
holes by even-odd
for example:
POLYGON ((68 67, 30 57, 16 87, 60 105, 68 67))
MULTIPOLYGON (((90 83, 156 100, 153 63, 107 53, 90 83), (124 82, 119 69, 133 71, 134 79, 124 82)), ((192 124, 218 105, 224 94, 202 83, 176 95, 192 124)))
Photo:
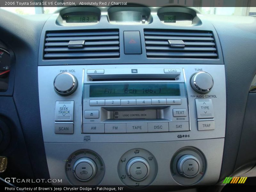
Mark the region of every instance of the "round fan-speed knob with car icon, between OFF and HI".
POLYGON ((92 180, 96 175, 97 166, 92 159, 84 157, 76 161, 73 172, 77 180, 86 182, 92 180))

